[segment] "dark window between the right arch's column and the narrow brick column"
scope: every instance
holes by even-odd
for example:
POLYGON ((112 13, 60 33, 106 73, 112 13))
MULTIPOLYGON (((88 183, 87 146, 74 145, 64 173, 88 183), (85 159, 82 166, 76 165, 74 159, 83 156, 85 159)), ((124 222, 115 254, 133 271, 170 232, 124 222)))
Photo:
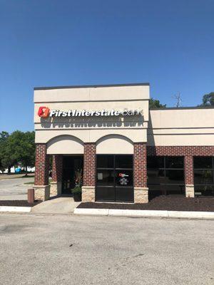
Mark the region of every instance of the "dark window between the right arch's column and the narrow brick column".
POLYGON ((183 157, 147 157, 147 175, 152 197, 185 194, 183 157))

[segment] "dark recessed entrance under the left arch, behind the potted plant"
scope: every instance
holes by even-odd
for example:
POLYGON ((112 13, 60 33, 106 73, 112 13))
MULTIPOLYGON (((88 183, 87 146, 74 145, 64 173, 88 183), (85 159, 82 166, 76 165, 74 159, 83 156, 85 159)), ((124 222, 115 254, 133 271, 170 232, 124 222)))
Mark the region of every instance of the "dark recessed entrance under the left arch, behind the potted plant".
POLYGON ((83 155, 63 156, 63 179, 61 193, 72 195, 71 189, 75 187, 75 172, 83 172, 83 155))

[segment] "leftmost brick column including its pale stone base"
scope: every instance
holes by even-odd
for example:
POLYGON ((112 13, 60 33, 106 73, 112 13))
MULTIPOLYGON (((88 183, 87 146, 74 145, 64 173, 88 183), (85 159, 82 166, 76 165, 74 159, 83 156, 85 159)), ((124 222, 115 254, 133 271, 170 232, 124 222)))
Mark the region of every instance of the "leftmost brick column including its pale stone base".
POLYGON ((36 144, 34 189, 35 199, 49 199, 49 155, 46 154, 45 143, 36 144))

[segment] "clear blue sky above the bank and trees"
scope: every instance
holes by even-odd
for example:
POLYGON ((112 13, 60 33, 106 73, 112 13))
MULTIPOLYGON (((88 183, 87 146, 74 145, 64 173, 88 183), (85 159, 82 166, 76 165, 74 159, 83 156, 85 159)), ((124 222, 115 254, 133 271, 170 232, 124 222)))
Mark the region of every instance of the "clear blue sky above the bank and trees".
POLYGON ((151 83, 183 106, 214 91, 213 0, 0 0, 0 131, 33 130, 33 88, 151 83))

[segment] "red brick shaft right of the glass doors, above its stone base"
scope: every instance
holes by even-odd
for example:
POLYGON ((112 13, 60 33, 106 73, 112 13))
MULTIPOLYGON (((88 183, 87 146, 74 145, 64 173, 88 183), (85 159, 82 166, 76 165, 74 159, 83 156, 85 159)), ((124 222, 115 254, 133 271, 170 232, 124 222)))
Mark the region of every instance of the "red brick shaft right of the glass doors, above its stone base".
POLYGON ((135 142, 133 154, 134 187, 147 187, 146 143, 135 142))

